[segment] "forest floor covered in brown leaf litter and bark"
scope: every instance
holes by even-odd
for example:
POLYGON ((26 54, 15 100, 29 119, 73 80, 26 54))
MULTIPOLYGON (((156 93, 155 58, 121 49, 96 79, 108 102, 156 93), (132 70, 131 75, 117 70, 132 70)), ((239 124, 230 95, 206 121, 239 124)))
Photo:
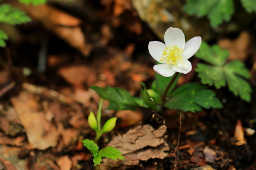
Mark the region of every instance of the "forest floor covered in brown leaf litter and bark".
MULTIPOLYGON (((97 113, 100 97, 90 87, 119 87, 139 96, 140 83, 154 80, 148 43, 158 38, 134 9, 109 2, 89 3, 84 15, 50 5, 22 6, 33 21, 11 27, 13 36, 0 49, 0 170, 93 169, 92 154, 78 142, 95 137, 87 117, 97 113)), ((227 88, 215 90, 222 109, 196 113, 114 112, 104 101, 102 121, 118 120, 100 148, 121 145, 130 151, 123 151, 124 162, 103 159, 98 169, 256 169, 255 32, 214 41, 233 57, 237 46, 245 46, 236 59, 250 69, 251 102, 227 88)), ((191 81, 199 82, 194 69, 178 84, 191 81)))

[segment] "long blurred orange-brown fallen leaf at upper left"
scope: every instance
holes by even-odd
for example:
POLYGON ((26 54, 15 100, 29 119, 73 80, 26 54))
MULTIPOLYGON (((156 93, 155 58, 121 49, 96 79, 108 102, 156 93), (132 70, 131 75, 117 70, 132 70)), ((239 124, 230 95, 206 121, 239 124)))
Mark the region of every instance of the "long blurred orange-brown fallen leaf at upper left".
POLYGON ((76 48, 84 56, 91 52, 91 45, 86 43, 84 33, 80 28, 81 20, 49 5, 16 4, 34 20, 43 23, 44 27, 64 39, 70 46, 76 48))

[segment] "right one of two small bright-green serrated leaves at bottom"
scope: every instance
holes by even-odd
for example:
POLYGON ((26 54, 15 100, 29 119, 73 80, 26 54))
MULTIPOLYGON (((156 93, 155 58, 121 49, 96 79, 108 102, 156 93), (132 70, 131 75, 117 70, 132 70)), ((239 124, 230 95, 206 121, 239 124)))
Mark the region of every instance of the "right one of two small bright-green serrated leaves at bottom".
POLYGON ((117 160, 117 158, 119 158, 121 160, 124 160, 124 157, 121 155, 121 151, 114 147, 103 148, 99 151, 99 154, 101 155, 101 157, 106 157, 114 160, 117 160))

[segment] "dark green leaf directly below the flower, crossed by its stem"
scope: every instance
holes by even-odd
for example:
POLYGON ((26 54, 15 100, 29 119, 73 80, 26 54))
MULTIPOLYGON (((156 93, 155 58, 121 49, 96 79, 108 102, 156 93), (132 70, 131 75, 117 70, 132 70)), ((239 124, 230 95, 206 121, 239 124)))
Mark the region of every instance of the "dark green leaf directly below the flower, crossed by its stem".
MULTIPOLYGON (((178 79, 180 77, 181 74, 178 75, 178 78, 172 83, 172 86, 170 87, 169 91, 167 92, 167 96, 170 94, 170 92, 175 88, 178 79)), ((159 96, 162 96, 164 94, 164 91, 166 89, 166 87, 168 86, 168 84, 170 83, 170 81, 172 80, 174 76, 172 77, 163 77, 160 74, 156 74, 156 79, 155 81, 152 83, 151 88, 156 91, 159 96)))

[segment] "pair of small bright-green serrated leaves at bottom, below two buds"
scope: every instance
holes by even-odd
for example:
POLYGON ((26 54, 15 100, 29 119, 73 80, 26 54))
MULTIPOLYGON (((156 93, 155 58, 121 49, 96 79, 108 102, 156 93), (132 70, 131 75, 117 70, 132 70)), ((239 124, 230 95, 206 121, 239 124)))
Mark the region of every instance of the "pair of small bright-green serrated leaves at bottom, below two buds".
POLYGON ((94 166, 100 165, 102 157, 117 160, 117 158, 124 160, 122 153, 114 147, 106 147, 99 151, 98 145, 89 139, 79 140, 83 145, 92 152, 94 166))

